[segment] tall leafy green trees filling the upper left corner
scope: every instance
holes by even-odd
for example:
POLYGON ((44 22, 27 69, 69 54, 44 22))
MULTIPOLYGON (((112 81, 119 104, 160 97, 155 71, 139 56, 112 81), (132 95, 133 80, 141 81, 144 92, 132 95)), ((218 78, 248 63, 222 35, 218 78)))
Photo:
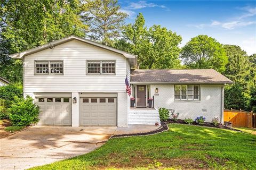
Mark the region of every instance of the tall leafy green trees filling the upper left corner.
POLYGON ((12 60, 8 54, 70 35, 84 37, 89 27, 82 22, 86 15, 81 10, 78 0, 2 1, 0 75, 10 81, 21 81, 22 62, 12 60))

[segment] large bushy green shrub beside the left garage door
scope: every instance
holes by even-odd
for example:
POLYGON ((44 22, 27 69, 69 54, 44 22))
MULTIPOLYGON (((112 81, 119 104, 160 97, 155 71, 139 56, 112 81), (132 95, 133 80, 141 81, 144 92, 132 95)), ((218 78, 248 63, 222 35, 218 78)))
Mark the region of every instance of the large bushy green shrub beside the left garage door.
POLYGON ((15 103, 8 109, 9 118, 13 126, 30 125, 39 121, 39 107, 33 104, 33 99, 28 97, 15 98, 15 103))

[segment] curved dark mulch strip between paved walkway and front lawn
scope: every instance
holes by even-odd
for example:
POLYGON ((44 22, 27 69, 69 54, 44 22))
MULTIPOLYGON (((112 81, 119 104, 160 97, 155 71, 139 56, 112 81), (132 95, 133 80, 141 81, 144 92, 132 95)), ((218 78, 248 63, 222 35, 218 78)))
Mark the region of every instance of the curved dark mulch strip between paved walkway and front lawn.
POLYGON ((154 131, 142 132, 142 133, 117 134, 117 135, 111 136, 110 138, 123 138, 123 137, 135 137, 135 136, 142 136, 142 135, 150 135, 150 134, 156 134, 156 133, 160 133, 163 131, 167 131, 168 129, 169 129, 168 126, 164 122, 161 122, 161 126, 154 131))

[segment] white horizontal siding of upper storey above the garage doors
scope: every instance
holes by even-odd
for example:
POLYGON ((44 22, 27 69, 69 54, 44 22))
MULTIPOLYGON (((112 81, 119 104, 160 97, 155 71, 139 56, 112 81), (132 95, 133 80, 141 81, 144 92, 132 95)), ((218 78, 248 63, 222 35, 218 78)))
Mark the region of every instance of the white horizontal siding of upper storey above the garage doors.
POLYGON ((25 57, 24 92, 125 92, 126 58, 108 50, 69 41, 25 57), (35 60, 63 60, 64 75, 34 75, 35 60), (116 75, 86 75, 86 60, 115 60, 116 75))

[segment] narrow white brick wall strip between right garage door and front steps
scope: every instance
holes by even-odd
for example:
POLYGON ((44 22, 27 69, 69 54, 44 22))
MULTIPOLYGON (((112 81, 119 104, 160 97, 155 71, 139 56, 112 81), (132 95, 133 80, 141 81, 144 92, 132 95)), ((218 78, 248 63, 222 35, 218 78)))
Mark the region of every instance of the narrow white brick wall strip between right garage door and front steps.
POLYGON ((117 94, 117 126, 128 126, 128 109, 129 96, 126 92, 118 92, 117 94))

